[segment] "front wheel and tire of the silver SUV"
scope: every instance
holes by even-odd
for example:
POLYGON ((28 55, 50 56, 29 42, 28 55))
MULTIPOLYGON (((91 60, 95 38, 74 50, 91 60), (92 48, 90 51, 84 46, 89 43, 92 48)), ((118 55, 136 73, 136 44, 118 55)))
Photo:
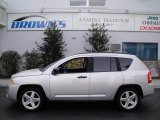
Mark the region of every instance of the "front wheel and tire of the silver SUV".
POLYGON ((43 107, 45 97, 37 88, 25 88, 19 95, 18 103, 25 111, 38 111, 43 107))

